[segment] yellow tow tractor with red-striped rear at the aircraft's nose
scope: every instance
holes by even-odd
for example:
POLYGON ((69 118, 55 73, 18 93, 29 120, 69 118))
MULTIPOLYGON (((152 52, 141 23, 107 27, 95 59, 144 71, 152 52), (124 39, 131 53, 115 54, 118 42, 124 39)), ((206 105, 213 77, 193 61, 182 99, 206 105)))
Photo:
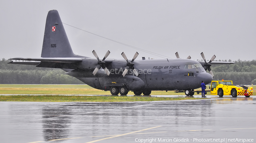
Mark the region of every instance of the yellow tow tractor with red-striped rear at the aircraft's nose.
POLYGON ((223 95, 231 95, 237 97, 238 95, 244 95, 250 97, 253 95, 253 88, 247 85, 235 85, 232 81, 212 81, 211 94, 222 97, 223 95))

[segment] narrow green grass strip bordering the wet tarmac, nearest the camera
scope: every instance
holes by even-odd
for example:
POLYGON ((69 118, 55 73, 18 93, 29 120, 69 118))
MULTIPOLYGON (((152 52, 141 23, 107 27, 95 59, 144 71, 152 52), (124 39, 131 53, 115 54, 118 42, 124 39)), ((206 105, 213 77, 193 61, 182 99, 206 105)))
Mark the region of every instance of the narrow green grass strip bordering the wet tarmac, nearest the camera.
POLYGON ((0 96, 0 101, 26 102, 125 102, 125 101, 168 101, 205 99, 195 97, 141 97, 141 96, 59 96, 59 95, 11 95, 0 96))

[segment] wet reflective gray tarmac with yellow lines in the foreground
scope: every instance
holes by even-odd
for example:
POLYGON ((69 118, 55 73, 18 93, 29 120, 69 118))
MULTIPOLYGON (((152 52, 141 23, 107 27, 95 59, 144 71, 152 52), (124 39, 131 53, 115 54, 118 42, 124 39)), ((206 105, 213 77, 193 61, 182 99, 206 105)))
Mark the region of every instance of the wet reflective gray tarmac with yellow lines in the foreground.
POLYGON ((255 96, 111 103, 0 102, 0 142, 256 142, 255 104, 255 96))

